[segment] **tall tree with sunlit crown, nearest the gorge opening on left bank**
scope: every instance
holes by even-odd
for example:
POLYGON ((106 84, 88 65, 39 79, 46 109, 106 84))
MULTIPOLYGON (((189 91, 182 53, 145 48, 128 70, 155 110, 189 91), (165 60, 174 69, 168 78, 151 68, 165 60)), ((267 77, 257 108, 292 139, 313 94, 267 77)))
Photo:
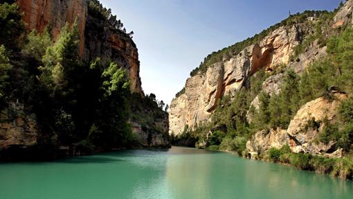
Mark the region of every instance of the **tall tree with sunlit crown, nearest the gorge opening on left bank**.
POLYGON ((98 109, 98 128, 104 132, 93 135, 93 143, 105 148, 124 146, 132 141, 129 126, 129 109, 127 98, 130 95, 129 77, 125 69, 111 62, 102 73, 103 98, 98 109))

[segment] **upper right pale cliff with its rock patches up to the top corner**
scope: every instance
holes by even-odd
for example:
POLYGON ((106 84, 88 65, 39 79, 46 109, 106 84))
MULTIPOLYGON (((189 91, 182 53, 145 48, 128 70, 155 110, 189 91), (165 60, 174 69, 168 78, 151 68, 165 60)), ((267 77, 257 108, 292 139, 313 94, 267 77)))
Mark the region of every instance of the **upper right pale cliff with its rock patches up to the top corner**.
MULTIPOLYGON (((336 28, 352 23, 352 2, 336 12, 329 26, 336 28)), ((185 126, 193 128, 202 121, 210 121, 212 111, 222 96, 232 96, 242 87, 251 87, 249 79, 260 69, 265 69, 269 76, 262 84, 262 91, 267 94, 278 94, 282 86, 283 72, 278 73, 282 64, 287 65, 284 71, 293 70, 302 73, 313 60, 325 57, 326 46, 319 40, 309 41, 315 32, 316 17, 307 17, 306 21, 292 25, 282 24, 251 46, 247 46, 231 58, 210 65, 206 73, 197 73, 186 80, 185 92, 170 103, 170 133, 183 132, 185 126), (297 53, 296 46, 307 42, 305 51, 297 53), (276 72, 277 71, 277 72, 276 72)), ((251 103, 256 109, 258 96, 251 103)), ((251 121, 251 116, 248 115, 251 121)))

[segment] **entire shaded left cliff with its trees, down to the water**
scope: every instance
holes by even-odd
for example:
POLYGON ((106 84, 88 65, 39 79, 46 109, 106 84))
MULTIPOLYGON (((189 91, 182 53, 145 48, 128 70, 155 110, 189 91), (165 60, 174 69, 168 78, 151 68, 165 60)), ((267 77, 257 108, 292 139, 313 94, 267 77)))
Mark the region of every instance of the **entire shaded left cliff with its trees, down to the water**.
POLYGON ((168 113, 143 93, 132 33, 110 9, 96 0, 10 3, 0 6, 27 31, 13 48, 0 44, 0 159, 170 147, 168 113))

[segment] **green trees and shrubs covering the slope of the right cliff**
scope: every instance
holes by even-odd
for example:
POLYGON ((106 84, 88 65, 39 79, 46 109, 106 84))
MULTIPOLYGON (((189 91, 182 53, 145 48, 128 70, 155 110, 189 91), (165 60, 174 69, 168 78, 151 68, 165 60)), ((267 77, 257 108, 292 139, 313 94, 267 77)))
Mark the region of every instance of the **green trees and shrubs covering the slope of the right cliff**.
MULTIPOLYGON (((332 29, 329 24, 331 24, 334 12, 316 13, 316 16, 320 15, 316 20, 318 25, 315 27, 315 33, 309 36, 303 35, 306 38, 309 37, 310 43, 316 40, 320 45, 326 45, 328 53, 326 58, 312 62, 301 76, 286 65, 279 66, 278 70, 271 71, 271 73, 265 73, 263 69, 258 71, 251 77, 249 89, 243 87, 232 97, 221 98, 210 123, 199 123, 192 128, 185 128, 176 139, 193 137, 197 140, 196 146, 199 148, 230 150, 244 155, 246 141, 255 132, 260 130, 269 132, 271 129, 278 128, 287 129, 293 116, 305 103, 320 96, 333 101, 335 93, 345 93, 350 97, 341 103, 338 118, 334 121, 327 121, 327 119, 317 121, 313 118, 307 126, 316 129, 324 126, 320 139, 317 141, 326 144, 328 141, 334 141, 336 143, 334 149, 343 148, 345 153, 352 153, 353 28, 341 26, 341 28, 332 29), (282 75, 283 83, 280 93, 270 96, 262 92, 261 86, 266 78, 274 74, 282 75), (260 105, 258 109, 255 109, 251 106, 251 102, 257 94, 259 94, 260 105)), ((304 17, 300 19, 306 20, 308 16, 314 15, 310 13, 315 12, 306 13, 309 14, 302 15, 304 17)), ((296 15, 296 17, 300 16, 296 15)), ((302 22, 298 18, 289 17, 289 19, 296 19, 293 21, 298 23, 302 22)), ((303 53, 308 46, 307 42, 296 46, 292 58, 303 53)), ((296 156, 291 155, 291 157, 296 156)), ((299 156, 301 157, 298 155, 298 158, 299 156)), ((313 158, 319 159, 319 157, 313 158)), ((288 163, 293 164, 293 162, 288 163)), ((336 163, 337 165, 343 164, 342 162, 336 163)))

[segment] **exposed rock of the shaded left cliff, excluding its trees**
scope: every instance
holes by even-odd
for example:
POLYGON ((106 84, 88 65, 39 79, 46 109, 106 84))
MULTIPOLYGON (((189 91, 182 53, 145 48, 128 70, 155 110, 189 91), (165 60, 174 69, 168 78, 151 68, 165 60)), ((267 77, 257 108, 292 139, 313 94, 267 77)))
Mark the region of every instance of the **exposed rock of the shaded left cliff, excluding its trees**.
MULTIPOLYGON (((100 58, 103 63, 113 61, 128 71, 131 90, 134 93, 132 96, 136 96, 130 106, 141 105, 138 111, 143 112, 145 116, 144 120, 130 119, 134 139, 138 142, 136 146, 163 148, 170 146, 168 114, 160 110, 155 102, 144 98, 139 74, 138 49, 129 34, 112 26, 104 17, 91 13, 87 0, 17 0, 16 2, 19 10, 24 13, 23 21, 28 31, 37 29, 41 32, 44 28, 50 27, 54 40, 60 35, 60 30, 66 23, 73 24, 77 21, 80 34, 80 57, 84 62, 100 58)), ((0 148, 35 146, 41 142, 43 139, 41 123, 35 114, 28 110, 30 108, 24 109, 23 103, 13 102, 8 102, 8 107, 1 110, 0 148)), ((138 112, 132 110, 132 114, 136 115, 138 112)), ((46 137, 42 142, 48 144, 48 141, 53 141, 52 144, 55 145, 55 139, 54 133, 53 137, 46 137)))

